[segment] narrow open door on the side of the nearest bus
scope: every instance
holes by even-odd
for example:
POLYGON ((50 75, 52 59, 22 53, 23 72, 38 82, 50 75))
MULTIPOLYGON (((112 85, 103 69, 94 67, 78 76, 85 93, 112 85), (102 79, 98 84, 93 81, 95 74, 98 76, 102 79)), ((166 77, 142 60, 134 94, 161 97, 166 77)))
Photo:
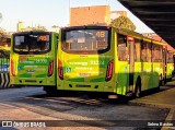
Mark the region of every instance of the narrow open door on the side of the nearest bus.
POLYGON ((135 38, 127 36, 129 54, 129 92, 133 92, 133 72, 135 72, 135 38))

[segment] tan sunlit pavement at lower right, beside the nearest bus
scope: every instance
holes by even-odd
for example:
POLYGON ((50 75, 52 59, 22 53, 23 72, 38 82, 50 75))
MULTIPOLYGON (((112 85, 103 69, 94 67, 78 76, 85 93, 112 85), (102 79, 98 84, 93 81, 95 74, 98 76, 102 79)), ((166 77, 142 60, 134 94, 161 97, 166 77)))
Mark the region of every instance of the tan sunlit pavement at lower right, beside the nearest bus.
POLYGON ((149 106, 156 108, 168 108, 170 113, 165 121, 171 121, 174 127, 162 127, 162 130, 175 130, 175 79, 167 82, 166 85, 161 86, 161 91, 143 95, 129 102, 131 105, 149 106))

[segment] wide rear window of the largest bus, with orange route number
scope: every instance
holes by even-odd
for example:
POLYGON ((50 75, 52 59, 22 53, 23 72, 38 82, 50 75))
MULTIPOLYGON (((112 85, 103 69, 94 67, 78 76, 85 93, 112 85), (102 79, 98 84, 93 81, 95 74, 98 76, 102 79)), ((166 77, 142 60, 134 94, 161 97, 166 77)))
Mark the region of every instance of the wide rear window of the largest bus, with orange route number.
POLYGON ((102 51, 108 48, 107 29, 72 29, 63 33, 61 45, 67 52, 102 51))

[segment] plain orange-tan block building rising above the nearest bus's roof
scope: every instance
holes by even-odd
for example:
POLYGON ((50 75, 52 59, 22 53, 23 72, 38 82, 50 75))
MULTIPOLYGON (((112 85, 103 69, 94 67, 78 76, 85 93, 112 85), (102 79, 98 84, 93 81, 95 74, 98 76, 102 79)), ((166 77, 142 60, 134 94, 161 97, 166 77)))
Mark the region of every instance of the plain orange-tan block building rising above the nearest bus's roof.
POLYGON ((108 5, 81 7, 70 9, 70 26, 107 25, 110 23, 110 8, 108 5))

